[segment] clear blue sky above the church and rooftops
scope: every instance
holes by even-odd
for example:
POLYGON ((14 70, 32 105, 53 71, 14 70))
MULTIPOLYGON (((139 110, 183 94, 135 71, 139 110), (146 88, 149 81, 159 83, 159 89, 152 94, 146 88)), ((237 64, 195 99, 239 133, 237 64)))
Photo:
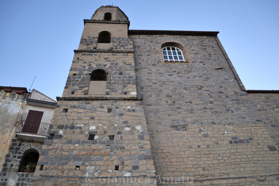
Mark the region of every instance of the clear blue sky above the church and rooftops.
POLYGON ((219 31, 247 90, 279 90, 279 1, 0 1, 0 86, 62 96, 83 19, 118 6, 131 30, 219 31))

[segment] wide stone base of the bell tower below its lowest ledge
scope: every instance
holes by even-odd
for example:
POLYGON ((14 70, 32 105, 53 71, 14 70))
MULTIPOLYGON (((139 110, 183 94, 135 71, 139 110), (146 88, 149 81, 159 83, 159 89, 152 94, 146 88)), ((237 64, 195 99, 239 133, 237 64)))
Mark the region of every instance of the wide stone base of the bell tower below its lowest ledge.
MULTIPOLYGON (((53 175, 57 178, 47 178, 47 183, 61 185, 65 183, 63 176, 81 176, 86 185, 92 183, 94 176, 155 176, 141 101, 60 100, 58 104, 69 107, 56 108, 35 177, 53 175), (67 112, 63 111, 65 108, 67 112), (114 136, 113 140, 110 135, 114 136), (44 165, 42 171, 40 165, 44 165)), ((148 181, 153 183, 154 179, 148 181)), ((68 184, 80 182, 67 179, 68 184)), ((94 180, 95 184, 110 182, 121 184, 125 180, 94 180)))

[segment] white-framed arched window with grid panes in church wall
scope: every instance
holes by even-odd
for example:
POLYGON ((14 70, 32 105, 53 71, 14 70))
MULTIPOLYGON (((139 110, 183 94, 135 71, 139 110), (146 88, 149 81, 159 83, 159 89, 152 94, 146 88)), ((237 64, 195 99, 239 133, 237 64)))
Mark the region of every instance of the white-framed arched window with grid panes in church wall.
POLYGON ((162 48, 164 61, 185 61, 182 51, 176 47, 162 48))

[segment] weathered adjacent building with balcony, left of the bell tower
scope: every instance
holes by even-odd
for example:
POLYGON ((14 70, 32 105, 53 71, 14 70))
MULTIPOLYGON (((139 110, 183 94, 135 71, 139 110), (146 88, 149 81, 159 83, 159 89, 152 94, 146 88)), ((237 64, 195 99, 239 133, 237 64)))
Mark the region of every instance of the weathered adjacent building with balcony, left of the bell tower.
POLYGON ((56 104, 35 89, 0 86, 1 185, 30 184, 56 104))

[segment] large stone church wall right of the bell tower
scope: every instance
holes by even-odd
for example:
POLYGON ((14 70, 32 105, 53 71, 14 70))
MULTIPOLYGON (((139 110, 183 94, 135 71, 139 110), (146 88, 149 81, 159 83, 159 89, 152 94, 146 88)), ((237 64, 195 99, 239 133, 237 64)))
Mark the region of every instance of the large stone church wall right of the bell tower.
MULTIPOLYGON (((270 94, 271 100, 263 101, 241 91, 214 37, 129 35, 129 38, 134 40, 138 95, 143 97, 145 115, 149 117, 146 124, 151 150, 161 178, 278 173, 279 156, 271 137, 276 132, 273 134, 274 129, 269 127, 276 121, 272 115, 266 117, 263 111, 267 108, 260 105, 268 102, 267 107, 278 109, 278 95, 270 94), (158 54, 160 45, 168 40, 182 43, 192 63, 163 63, 158 54)), ((275 176, 267 180, 270 181, 263 184, 278 184, 275 176)), ((241 185, 240 182, 258 183, 254 178, 241 181, 235 178, 194 184, 241 185)))

